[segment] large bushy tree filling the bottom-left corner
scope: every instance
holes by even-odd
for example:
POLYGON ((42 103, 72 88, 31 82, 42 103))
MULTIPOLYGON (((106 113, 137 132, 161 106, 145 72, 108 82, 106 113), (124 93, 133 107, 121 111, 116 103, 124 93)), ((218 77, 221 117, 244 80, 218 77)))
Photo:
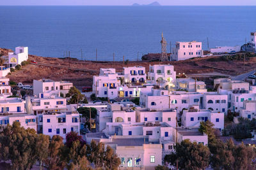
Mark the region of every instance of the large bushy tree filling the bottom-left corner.
POLYGON ((19 122, 8 125, 0 132, 1 160, 11 160, 12 169, 30 169, 40 154, 36 137, 34 129, 24 129, 19 122))

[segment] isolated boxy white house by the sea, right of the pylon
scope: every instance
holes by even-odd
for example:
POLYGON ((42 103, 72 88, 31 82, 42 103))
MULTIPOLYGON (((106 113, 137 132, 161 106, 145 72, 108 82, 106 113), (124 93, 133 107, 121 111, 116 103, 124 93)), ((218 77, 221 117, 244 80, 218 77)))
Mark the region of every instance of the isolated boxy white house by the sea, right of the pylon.
POLYGON ((203 57, 202 42, 176 42, 172 49, 172 60, 186 60, 192 57, 203 57))

